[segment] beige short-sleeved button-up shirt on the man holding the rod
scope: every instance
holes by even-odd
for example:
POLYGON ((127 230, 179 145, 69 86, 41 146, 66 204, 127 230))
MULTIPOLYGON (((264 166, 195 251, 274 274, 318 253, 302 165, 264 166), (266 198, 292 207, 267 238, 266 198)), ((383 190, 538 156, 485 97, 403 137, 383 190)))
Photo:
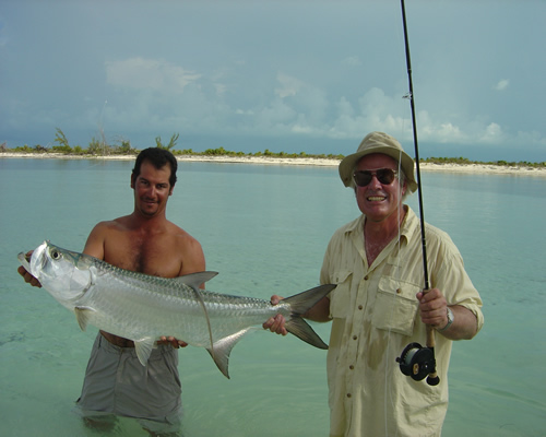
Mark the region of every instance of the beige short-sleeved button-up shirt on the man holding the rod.
MULTIPOLYGON (((330 298, 328 353, 331 436, 439 436, 448 408, 452 341, 436 333, 440 383, 402 374, 396 357, 412 342, 426 345, 415 295, 424 288, 420 224, 407 214, 394 238, 368 265, 365 216, 341 227, 328 246, 321 283, 337 287, 330 298)), ((468 308, 484 323, 482 299, 462 257, 444 232, 426 225, 429 282, 448 305, 468 308)))

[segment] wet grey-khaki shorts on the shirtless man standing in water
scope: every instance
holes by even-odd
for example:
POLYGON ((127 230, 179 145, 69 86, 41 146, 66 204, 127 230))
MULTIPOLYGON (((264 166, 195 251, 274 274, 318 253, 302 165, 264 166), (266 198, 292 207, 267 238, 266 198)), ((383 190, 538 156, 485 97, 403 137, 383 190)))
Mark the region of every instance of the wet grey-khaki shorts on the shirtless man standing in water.
POLYGON ((178 377, 178 351, 169 344, 152 351, 142 366, 134 347, 119 347, 100 332, 95 339, 85 371, 80 413, 110 413, 178 426, 182 413, 178 377))

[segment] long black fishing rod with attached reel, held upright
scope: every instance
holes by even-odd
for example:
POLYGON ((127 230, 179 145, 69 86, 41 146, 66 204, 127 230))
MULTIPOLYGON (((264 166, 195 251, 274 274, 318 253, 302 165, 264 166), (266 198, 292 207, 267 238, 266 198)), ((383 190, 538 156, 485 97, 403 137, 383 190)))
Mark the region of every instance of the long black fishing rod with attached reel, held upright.
MULTIPOLYGON (((401 0, 402 5, 402 21, 404 23, 404 42, 406 51, 406 64, 407 64, 407 78, 410 83, 410 93, 407 98, 410 99, 410 105, 412 107, 412 123, 413 123, 413 142, 415 146, 415 165, 417 172, 417 187, 418 187, 418 199, 419 199, 419 214, 420 214, 420 240, 423 246, 423 270, 425 276, 425 290, 427 293, 430 288, 428 281, 428 262, 427 262, 427 239, 425 236, 425 213, 423 209, 423 189, 420 184, 420 169, 419 169, 419 146, 417 143, 417 122, 415 120, 415 98, 413 93, 413 80, 412 80, 412 60, 410 57, 410 42, 407 38, 407 23, 406 23, 406 10, 404 0, 401 0)), ((412 377, 416 381, 420 381, 427 377, 427 383, 429 386, 437 386, 440 382, 440 378, 436 371, 436 358, 435 358, 435 331, 430 324, 427 324, 427 347, 423 347, 419 343, 408 344, 401 356, 396 358, 400 363, 400 369, 406 376, 412 377)))

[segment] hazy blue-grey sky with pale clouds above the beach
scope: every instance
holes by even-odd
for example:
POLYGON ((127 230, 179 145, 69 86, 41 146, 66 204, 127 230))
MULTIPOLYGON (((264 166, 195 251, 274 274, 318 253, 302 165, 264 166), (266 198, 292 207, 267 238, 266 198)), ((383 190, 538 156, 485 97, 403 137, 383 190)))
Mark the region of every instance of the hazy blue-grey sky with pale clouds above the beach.
MULTIPOLYGON (((406 0, 419 151, 546 161, 546 1, 406 0)), ((0 143, 413 150, 399 0, 2 0, 0 143)))

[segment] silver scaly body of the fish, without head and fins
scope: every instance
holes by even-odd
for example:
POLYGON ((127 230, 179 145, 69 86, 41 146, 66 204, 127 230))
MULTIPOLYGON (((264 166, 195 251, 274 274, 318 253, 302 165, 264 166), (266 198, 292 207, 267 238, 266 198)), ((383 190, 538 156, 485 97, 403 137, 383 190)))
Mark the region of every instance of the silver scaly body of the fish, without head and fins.
MULTIPOLYGON (((94 260, 96 283, 79 305, 96 312, 90 322, 128 339, 173 335, 195 346, 210 346, 206 317, 195 292, 176 279, 150 276, 94 260)), ((213 341, 261 326, 275 314, 288 316, 288 305, 273 306, 254 297, 200 291, 213 341)))

